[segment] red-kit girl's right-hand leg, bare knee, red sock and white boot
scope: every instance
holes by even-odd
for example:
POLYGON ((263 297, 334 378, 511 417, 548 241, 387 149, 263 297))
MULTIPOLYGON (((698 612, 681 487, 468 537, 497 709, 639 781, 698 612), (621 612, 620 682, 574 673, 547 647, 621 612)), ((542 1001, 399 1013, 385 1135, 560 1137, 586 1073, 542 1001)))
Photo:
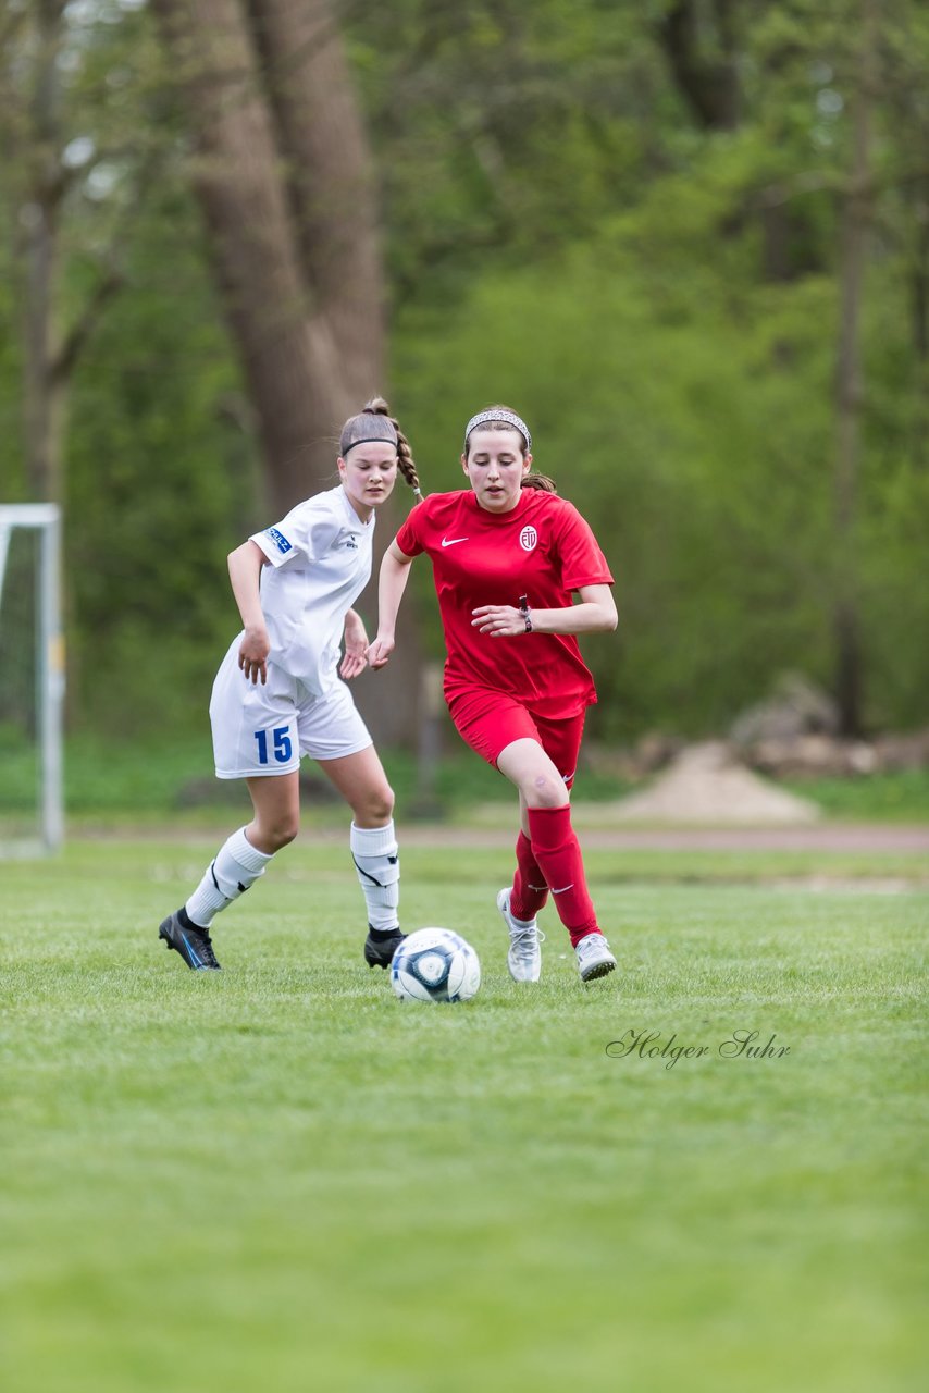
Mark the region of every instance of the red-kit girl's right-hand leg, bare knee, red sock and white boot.
POLYGON ((561 775, 542 745, 528 738, 507 745, 497 756, 497 769, 520 790, 532 857, 571 935, 581 979, 589 982, 604 976, 616 967, 616 958, 596 922, 561 775))

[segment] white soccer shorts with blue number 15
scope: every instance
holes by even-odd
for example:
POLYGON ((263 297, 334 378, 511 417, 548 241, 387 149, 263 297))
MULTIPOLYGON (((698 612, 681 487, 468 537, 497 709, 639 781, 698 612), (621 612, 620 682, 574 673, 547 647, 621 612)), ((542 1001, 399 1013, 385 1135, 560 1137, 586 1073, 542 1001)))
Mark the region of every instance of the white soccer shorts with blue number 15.
POLYGON ((210 724, 217 779, 292 775, 304 755, 343 759, 373 741, 343 681, 322 696, 273 663, 267 683, 252 683, 233 642, 213 683, 210 724))

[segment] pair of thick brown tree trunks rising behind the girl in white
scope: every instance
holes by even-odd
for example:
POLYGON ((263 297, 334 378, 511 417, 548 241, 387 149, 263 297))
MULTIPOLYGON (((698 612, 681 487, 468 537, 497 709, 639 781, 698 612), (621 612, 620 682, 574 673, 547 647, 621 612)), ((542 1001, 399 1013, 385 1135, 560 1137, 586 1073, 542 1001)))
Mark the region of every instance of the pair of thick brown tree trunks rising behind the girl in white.
MULTIPOLYGON (((153 8, 198 134, 195 185, 280 515, 336 482, 343 421, 383 391, 376 203, 350 72, 327 0, 153 8)), ((375 566, 400 508, 379 518, 375 566)), ((373 595, 364 607, 373 618, 373 595)), ((416 729, 409 618, 403 659, 357 690, 387 744, 416 729)))

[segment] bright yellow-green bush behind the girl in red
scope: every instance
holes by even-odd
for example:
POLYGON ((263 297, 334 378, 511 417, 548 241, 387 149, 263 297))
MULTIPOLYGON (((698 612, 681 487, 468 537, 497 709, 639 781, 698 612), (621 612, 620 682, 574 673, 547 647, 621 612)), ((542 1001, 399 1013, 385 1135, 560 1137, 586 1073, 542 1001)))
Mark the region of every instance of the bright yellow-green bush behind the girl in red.
MULTIPOLYGON (((726 256, 691 276, 659 205, 557 263, 485 276, 454 315, 401 316, 394 357, 428 489, 458 486, 467 417, 513 401, 538 467, 592 521, 621 621, 616 638, 585 644, 602 696, 591 719, 623 737, 726 727, 784 669, 830 677, 833 284, 740 291, 726 256), (662 252, 637 256, 656 226, 662 252)), ((879 298, 869 357, 891 393, 905 330, 891 323, 893 283, 879 298)), ((866 486, 866 641, 884 659, 871 710, 916 722, 925 656, 901 666, 890 651, 923 613, 908 579, 923 479, 873 453, 866 486)))

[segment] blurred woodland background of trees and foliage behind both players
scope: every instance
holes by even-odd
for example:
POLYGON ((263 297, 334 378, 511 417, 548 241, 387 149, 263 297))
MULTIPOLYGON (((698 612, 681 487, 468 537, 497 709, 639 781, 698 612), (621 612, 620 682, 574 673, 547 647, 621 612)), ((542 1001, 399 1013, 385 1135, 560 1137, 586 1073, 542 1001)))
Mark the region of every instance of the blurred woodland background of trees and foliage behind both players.
MULTIPOLYGON (((139 807, 210 786, 226 553, 331 486, 377 390, 426 492, 504 401, 593 524, 616 787, 740 731, 809 773, 790 734, 929 805, 925 6, 8 0, 0 26, 0 501, 64 510, 72 807, 103 754, 139 807)), ((442 656, 416 571, 390 684, 358 685, 401 783, 442 656)))

